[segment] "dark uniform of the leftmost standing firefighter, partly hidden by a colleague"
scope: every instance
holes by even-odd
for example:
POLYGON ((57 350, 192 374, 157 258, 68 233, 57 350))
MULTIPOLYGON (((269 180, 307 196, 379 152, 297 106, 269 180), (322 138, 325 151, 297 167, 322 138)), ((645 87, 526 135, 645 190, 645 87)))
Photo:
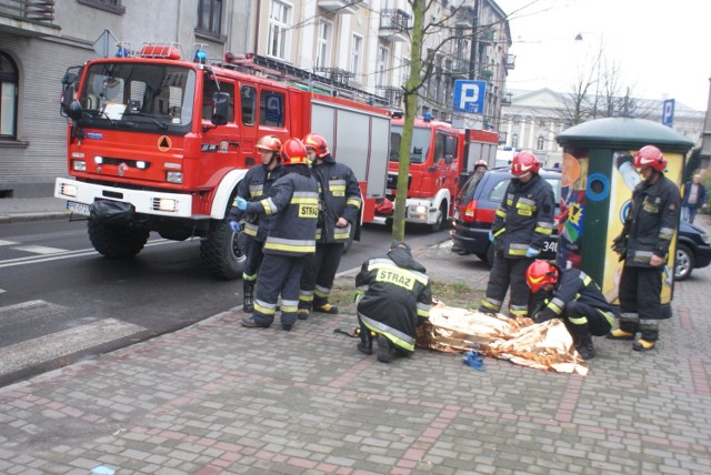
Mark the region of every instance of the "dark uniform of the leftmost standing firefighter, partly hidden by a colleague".
MULTIPOLYGON (((274 158, 273 160, 279 159, 274 158)), ((237 185, 237 196, 243 198, 247 201, 259 201, 269 194, 274 182, 282 175, 283 169, 280 163, 272 170, 268 170, 264 165, 253 166, 249 169, 242 181, 237 185)), ((228 212, 228 220, 239 222, 242 218, 244 218, 242 233, 248 236, 240 242, 240 244, 244 246, 241 251, 247 257, 242 280, 246 284, 253 286, 257 281, 259 266, 262 262, 262 246, 271 229, 271 222, 274 215, 247 213, 239 210, 236 203, 232 203, 228 212)))

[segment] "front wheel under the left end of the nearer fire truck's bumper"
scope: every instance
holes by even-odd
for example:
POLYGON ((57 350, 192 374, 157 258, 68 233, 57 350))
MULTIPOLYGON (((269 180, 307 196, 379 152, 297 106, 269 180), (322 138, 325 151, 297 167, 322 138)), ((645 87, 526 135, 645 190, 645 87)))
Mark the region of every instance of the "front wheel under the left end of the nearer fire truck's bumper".
POLYGON ((87 221, 89 240, 100 254, 111 259, 131 259, 146 245, 149 230, 140 228, 117 226, 87 221))

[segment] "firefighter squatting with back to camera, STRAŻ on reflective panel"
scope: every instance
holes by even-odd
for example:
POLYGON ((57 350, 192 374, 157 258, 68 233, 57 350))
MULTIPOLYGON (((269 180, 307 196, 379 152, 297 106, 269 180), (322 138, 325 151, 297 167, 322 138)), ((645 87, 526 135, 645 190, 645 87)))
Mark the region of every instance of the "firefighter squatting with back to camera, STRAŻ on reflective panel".
POLYGON ((390 363, 395 353, 409 356, 414 352, 417 326, 430 316, 432 303, 424 272, 404 242, 393 244, 387 255, 363 263, 356 276, 359 352, 372 354, 374 335, 381 363, 390 363))

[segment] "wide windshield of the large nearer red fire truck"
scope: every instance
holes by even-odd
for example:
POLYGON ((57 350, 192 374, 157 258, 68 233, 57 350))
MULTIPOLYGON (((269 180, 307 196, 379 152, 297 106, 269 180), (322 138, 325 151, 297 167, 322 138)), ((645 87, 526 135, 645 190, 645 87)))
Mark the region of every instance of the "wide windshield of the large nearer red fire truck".
POLYGON ((196 89, 192 69, 132 62, 96 63, 79 98, 91 127, 161 130, 190 125, 196 89))

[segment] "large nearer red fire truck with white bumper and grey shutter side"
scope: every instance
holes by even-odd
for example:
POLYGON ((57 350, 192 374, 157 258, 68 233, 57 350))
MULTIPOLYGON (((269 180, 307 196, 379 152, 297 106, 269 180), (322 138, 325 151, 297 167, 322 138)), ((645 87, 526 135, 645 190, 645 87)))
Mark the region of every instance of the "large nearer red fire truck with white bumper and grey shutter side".
POLYGON ((200 52, 186 61, 174 43, 120 51, 70 68, 62 80, 71 178, 57 179, 54 196, 87 216, 98 252, 133 257, 151 231, 199 238, 208 269, 239 277, 244 257, 224 216, 237 184, 260 163, 254 144, 264 134, 322 134, 361 183, 361 220, 373 220, 385 193, 390 115, 342 98, 367 93, 341 87, 334 97, 328 78, 253 54, 207 64, 200 52), (288 82, 303 77, 311 87, 288 82))

